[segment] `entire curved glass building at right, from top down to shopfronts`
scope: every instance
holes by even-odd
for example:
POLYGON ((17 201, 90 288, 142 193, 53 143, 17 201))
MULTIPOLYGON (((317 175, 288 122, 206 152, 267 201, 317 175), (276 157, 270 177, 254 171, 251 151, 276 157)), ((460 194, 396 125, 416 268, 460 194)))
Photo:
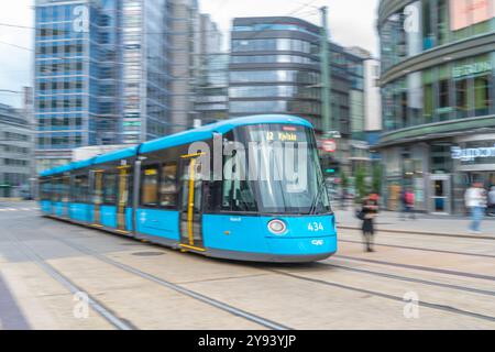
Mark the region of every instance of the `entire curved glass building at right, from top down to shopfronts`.
POLYGON ((495 185, 495 1, 383 0, 384 196, 464 213, 473 182, 495 185))

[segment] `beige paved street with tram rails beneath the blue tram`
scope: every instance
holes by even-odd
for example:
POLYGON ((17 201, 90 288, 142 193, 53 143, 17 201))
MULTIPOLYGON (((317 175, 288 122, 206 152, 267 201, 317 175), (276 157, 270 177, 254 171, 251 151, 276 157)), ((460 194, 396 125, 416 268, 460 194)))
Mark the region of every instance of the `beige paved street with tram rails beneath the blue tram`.
POLYGON ((495 329, 493 240, 341 230, 327 261, 253 264, 36 208, 0 204, 0 329, 495 329))

